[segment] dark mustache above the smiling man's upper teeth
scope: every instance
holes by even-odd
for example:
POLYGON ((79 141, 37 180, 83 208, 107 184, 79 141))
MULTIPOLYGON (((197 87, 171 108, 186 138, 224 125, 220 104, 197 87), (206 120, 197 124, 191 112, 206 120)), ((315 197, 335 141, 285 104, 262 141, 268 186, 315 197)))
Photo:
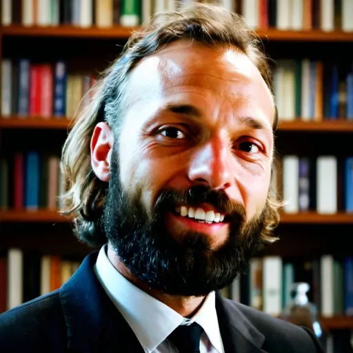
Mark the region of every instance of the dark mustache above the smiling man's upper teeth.
POLYGON ((221 213, 245 219, 245 208, 239 201, 230 199, 224 190, 215 190, 207 185, 194 185, 187 190, 162 190, 156 205, 168 205, 172 208, 182 203, 191 207, 208 203, 221 213))

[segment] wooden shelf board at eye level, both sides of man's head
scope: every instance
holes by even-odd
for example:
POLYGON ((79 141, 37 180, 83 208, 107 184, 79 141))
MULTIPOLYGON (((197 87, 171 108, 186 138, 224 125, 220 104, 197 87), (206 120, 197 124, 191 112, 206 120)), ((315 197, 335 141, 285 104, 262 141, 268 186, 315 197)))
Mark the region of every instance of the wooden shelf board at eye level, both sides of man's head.
MULTIPOLYGON (((66 117, 7 117, 0 118, 0 128, 8 129, 67 129, 71 119, 66 117)), ((279 131, 292 132, 353 132, 353 121, 281 121, 279 131)))

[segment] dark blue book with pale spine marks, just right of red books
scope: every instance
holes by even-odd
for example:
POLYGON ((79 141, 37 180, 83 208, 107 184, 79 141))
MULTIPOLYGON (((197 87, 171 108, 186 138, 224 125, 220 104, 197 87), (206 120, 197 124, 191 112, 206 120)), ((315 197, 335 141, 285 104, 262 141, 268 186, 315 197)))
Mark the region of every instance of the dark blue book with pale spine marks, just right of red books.
POLYGON ((66 114, 66 86, 68 75, 66 64, 58 61, 54 73, 54 116, 65 117, 66 114))

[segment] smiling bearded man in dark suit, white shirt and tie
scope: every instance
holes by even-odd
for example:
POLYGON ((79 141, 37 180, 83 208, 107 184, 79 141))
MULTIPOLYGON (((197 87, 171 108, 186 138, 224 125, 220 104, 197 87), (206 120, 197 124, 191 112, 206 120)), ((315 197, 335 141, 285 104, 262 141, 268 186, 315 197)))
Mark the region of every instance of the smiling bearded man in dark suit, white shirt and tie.
POLYGON ((1 352, 320 352, 309 330, 217 292, 278 222, 276 108, 255 39, 201 4, 132 36, 63 150, 66 213, 101 250, 0 316, 1 352))

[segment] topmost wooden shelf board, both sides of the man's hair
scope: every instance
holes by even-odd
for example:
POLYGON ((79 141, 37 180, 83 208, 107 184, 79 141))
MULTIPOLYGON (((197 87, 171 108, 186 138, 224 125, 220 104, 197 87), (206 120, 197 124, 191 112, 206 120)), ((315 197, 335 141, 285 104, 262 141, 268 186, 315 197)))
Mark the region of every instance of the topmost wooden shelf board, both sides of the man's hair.
MULTIPOLYGON (((120 38, 127 39, 133 30, 137 28, 128 28, 114 26, 112 28, 79 28, 74 26, 58 27, 23 27, 23 26, 4 26, 0 28, 3 36, 25 36, 25 37, 77 37, 77 38, 120 38)), ((277 30, 270 28, 268 30, 256 30, 263 41, 353 41, 353 32, 343 32, 335 30, 333 32, 324 32, 321 30, 294 31, 277 30)))

